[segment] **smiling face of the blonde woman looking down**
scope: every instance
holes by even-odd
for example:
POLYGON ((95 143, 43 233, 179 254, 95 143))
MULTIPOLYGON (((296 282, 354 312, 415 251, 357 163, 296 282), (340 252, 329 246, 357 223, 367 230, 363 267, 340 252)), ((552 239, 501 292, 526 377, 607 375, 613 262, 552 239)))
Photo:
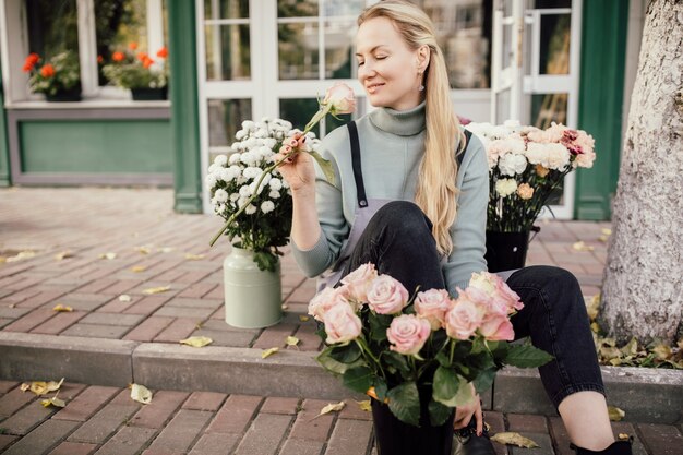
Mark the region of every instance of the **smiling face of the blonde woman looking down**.
POLYGON ((358 80, 370 104, 396 110, 411 109, 422 100, 419 91, 426 65, 424 50, 411 50, 386 17, 363 22, 356 35, 358 80))

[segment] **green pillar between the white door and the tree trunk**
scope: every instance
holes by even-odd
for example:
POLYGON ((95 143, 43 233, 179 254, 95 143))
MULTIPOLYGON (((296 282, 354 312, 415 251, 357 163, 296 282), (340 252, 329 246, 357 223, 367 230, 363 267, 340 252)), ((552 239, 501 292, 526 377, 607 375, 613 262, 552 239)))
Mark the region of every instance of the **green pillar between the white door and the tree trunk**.
POLYGON ((616 191, 628 0, 584 1, 578 128, 596 140, 591 169, 578 169, 574 217, 607 220, 616 191))

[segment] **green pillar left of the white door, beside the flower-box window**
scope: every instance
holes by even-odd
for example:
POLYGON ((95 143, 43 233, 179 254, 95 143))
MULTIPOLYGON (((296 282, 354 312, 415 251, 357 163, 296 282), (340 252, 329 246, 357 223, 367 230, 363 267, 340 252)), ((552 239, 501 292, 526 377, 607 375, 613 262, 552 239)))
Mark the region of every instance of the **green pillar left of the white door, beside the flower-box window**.
POLYGON ((194 1, 168 0, 175 211, 202 213, 194 1))

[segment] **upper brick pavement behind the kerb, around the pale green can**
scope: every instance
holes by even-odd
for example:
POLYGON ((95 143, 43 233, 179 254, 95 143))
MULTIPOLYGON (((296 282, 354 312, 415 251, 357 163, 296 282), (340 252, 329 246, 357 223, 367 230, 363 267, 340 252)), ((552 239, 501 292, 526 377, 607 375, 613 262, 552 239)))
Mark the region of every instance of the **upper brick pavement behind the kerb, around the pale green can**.
MULTIPOLYGON (((221 260, 227 241, 209 249, 220 221, 212 215, 172 212, 172 191, 156 189, 0 189, 0 256, 35 255, 0 263, 0 328, 48 335, 177 343, 209 336, 214 346, 272 347, 286 335, 316 350, 313 322, 302 322, 314 282, 283 259, 283 322, 263 331, 223 323, 221 260), (57 260, 56 254, 70 255, 57 260), (100 259, 116 253, 112 259, 100 259), (191 256, 188 256, 190 254, 191 256), (190 258, 190 259, 188 259, 190 258), (169 286, 147 296, 145 289, 169 286), (120 296, 130 296, 121 301, 120 296), (57 304, 71 313, 57 313, 57 304)), ((527 264, 560 265, 578 278, 584 295, 599 291, 607 223, 539 221, 527 264), (584 241, 591 251, 572 248, 584 241)), ((287 252, 287 250, 285 250, 287 252)))

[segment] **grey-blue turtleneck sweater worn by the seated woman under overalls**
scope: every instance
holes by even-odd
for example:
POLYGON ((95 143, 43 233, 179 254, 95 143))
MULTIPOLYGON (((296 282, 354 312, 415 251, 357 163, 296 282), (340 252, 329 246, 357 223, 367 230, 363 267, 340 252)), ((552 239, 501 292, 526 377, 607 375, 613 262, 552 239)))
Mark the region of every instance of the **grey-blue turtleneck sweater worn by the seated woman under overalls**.
MULTIPOLYGON (((379 108, 356 123, 368 199, 414 201, 424 154, 424 103, 405 111, 379 108)), ((358 205, 347 128, 337 128, 325 136, 321 155, 332 163, 336 177, 335 184, 329 184, 315 166, 315 205, 322 235, 310 250, 300 250, 291 241, 295 260, 309 277, 320 275, 335 263, 348 239, 358 205)), ((472 272, 487 268, 483 254, 489 168, 483 145, 475 135, 458 169, 456 187, 460 191, 457 216, 450 229, 454 249, 442 266, 453 296, 457 296, 456 286, 467 287, 472 272)))

